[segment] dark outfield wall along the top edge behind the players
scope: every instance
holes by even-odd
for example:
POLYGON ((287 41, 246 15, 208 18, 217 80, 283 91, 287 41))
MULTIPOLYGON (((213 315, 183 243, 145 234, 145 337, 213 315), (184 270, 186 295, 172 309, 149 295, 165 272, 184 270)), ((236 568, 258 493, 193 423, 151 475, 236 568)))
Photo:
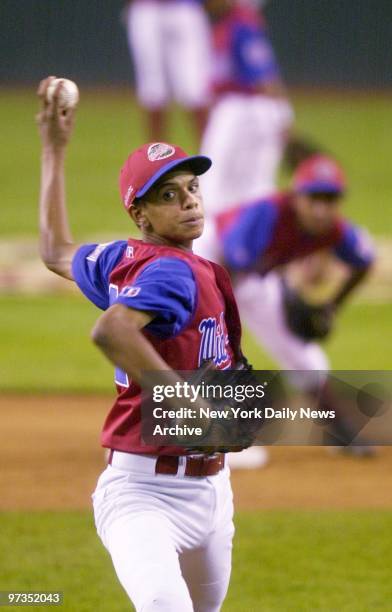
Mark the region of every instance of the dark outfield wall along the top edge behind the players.
MULTIPOLYGON (((0 81, 67 75, 131 80, 122 0, 0 0, 0 81)), ((392 85, 392 0, 271 0, 270 30, 288 81, 392 85)), ((151 41, 154 44, 154 41, 151 41)))

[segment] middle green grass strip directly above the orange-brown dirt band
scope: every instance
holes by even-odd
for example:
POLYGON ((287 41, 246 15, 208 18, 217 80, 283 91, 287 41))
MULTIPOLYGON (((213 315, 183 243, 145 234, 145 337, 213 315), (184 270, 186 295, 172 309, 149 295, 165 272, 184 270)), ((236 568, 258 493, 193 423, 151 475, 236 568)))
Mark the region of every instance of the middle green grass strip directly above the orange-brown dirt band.
MULTIPOLYGON (((89 337, 98 314, 78 296, 3 297, 0 388, 25 393, 113 392, 112 368, 89 337)), ((390 304, 349 304, 326 344, 333 368, 392 369, 390 325, 390 304)), ((244 352, 258 369, 274 366, 249 333, 244 336, 244 352)))

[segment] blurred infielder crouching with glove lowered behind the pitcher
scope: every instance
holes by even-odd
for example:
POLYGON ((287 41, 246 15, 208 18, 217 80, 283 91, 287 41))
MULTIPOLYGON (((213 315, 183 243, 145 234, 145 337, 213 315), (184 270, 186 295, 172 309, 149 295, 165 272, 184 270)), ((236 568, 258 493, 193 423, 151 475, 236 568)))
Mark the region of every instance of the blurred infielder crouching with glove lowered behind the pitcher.
MULTIPOLYGON (((218 214, 208 234, 196 241, 196 252, 220 261, 231 272, 241 318, 282 369, 329 369, 316 340, 331 331, 336 312, 372 265, 367 233, 340 214, 345 191, 346 179, 337 162, 314 155, 298 166, 291 191, 218 214), (333 255, 346 270, 334 294, 316 307, 298 295, 286 275, 288 264, 311 254, 333 255)), ((315 268, 317 275, 319 263, 315 268)), ((316 392, 312 385, 303 390, 316 392)), ((340 425, 347 437, 349 424, 340 425)), ((351 450, 368 454, 366 447, 351 450)), ((257 452, 252 448, 242 453, 242 467, 258 465, 257 452)), ((238 457, 237 466, 241 460, 238 457)))

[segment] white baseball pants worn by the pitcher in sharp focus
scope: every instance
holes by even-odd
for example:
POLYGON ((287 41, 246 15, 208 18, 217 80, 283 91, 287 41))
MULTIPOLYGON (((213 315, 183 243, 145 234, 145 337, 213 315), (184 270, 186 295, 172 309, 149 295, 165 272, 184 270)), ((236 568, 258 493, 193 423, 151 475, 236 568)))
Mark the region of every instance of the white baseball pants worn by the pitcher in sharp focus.
MULTIPOLYGON (((121 453, 120 453, 121 455, 121 453)), ((108 466, 93 494, 95 523, 137 612, 218 612, 234 535, 229 469, 208 477, 108 466)))

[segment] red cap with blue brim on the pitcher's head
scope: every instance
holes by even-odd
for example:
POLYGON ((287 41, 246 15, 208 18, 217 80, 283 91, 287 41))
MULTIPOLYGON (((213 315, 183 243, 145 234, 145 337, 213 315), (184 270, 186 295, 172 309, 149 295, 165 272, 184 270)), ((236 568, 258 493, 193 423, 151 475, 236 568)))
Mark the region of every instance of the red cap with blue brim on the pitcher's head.
POLYGON ((133 151, 120 172, 120 193, 125 208, 128 210, 135 198, 144 196, 166 172, 182 164, 189 165, 199 175, 207 172, 212 162, 204 155, 189 156, 167 142, 147 143, 133 151))

